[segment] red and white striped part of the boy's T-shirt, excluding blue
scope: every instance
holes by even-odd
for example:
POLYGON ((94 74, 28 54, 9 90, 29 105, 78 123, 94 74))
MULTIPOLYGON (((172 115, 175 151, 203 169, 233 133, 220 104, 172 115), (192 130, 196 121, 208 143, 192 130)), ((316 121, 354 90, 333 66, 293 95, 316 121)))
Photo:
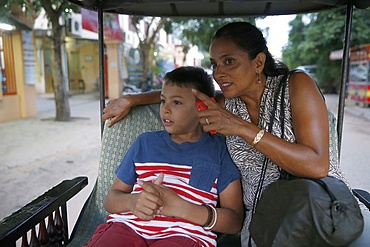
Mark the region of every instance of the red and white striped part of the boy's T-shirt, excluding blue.
MULTIPOLYGON (((135 166, 140 180, 153 181, 159 173, 164 173, 162 184, 174 190, 184 200, 199 205, 210 204, 216 206, 217 204, 217 179, 210 192, 194 188, 189 185, 191 166, 163 163, 136 163, 135 166)), ((142 188, 135 183, 132 193, 139 193, 140 191, 142 191, 142 188)), ((184 236, 199 242, 202 246, 216 246, 215 233, 181 218, 157 215, 148 221, 139 219, 131 212, 125 212, 109 215, 108 222, 122 222, 146 239, 184 236)))

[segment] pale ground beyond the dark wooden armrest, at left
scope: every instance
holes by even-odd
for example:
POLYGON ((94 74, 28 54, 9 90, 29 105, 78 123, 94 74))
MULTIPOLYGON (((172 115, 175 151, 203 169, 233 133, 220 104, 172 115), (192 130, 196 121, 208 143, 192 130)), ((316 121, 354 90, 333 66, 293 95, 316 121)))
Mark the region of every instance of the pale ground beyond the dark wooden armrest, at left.
POLYGON ((89 185, 69 201, 74 224, 90 194, 100 158, 99 94, 72 95, 71 122, 56 122, 53 95, 37 99, 34 118, 0 123, 0 219, 65 179, 89 185))

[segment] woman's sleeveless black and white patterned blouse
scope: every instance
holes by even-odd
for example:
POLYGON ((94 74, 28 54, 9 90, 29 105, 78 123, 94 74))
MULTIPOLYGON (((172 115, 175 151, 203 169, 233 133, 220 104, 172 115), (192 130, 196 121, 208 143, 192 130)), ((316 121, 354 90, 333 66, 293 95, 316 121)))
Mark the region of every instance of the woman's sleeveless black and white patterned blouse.
MULTIPOLYGON (((270 124, 270 116, 273 109, 273 102, 275 97, 275 92, 278 90, 278 85, 282 75, 275 77, 268 77, 266 80, 266 86, 262 94, 260 102, 260 113, 259 113, 259 123, 260 128, 268 130, 270 124)), ((284 112, 285 112, 285 127, 284 127, 284 139, 289 142, 295 142, 296 137, 293 131, 290 99, 289 99, 289 84, 285 88, 284 99, 281 99, 281 93, 279 93, 277 101, 277 110, 275 113, 274 124, 272 127, 271 134, 278 137, 281 136, 281 125, 279 121, 280 116, 280 105, 282 100, 284 100, 284 112)), ((225 99, 225 108, 232 112, 233 114, 239 116, 245 121, 251 122, 250 116, 248 114, 246 105, 244 101, 239 98, 227 98, 225 99)), ((246 219, 244 222, 244 229, 248 228, 251 221, 251 210, 253 207, 253 200, 256 194, 258 183, 260 180, 260 174, 262 171, 262 166, 265 156, 257 151, 255 148, 251 148, 249 143, 239 136, 226 136, 226 143, 229 149, 230 155, 235 162, 236 166, 239 168, 242 175, 242 186, 243 186, 243 201, 246 206, 246 219)), ((342 180, 343 175, 339 170, 337 164, 336 154, 330 152, 330 172, 329 174, 334 175, 342 180)), ((263 182, 262 189, 265 189, 267 185, 274 182, 279 178, 278 166, 272 163, 270 160, 267 164, 266 175, 263 182)), ((345 181, 345 180, 344 180, 345 181)))

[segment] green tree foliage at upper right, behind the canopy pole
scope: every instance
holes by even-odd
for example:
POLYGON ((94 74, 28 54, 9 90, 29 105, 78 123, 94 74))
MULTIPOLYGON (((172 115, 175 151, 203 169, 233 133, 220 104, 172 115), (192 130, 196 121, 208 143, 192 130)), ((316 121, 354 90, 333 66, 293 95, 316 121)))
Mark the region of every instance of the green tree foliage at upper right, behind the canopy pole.
MULTIPOLYGON (((283 61, 290 67, 315 64, 315 77, 327 93, 338 91, 341 61, 331 61, 331 51, 343 48, 346 11, 344 9, 297 15, 289 24, 288 44, 283 48, 283 61)), ((351 46, 370 43, 370 9, 354 9, 351 46)))

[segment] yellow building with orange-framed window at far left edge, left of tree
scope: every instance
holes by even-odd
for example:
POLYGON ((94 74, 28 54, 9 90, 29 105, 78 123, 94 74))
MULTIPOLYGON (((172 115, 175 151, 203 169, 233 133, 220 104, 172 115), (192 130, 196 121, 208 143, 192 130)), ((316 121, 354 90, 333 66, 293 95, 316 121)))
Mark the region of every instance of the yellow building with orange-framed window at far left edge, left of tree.
POLYGON ((13 9, 0 24, 0 122, 35 116, 38 66, 35 59, 33 17, 13 9))

